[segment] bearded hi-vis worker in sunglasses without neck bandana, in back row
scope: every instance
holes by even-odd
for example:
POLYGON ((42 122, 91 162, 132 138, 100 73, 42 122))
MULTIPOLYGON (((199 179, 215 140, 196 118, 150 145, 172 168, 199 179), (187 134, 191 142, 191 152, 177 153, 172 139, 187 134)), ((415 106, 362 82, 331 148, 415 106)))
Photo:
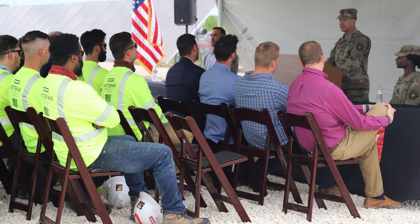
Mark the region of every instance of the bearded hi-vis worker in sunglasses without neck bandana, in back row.
POLYGON ((101 86, 108 70, 99 66, 99 62, 106 60, 106 34, 100 29, 86 31, 80 36, 80 43, 86 53, 86 59, 83 61, 82 76, 78 77, 101 95, 101 86))

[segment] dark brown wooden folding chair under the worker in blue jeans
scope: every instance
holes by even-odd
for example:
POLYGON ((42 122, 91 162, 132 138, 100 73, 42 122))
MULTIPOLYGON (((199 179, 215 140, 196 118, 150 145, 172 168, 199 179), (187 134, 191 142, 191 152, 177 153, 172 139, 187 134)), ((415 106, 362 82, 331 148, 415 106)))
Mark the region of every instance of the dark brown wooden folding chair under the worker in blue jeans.
MULTIPOLYGON (((63 118, 58 118, 55 121, 48 118, 45 118, 45 119, 47 120, 47 123, 49 125, 48 132, 50 133, 55 132, 63 137, 68 147, 68 155, 67 155, 66 166, 60 165, 60 162, 54 159, 50 163, 50 170, 48 172, 47 186, 51 184, 51 178, 53 176, 53 173, 57 174, 58 177, 61 179, 61 193, 60 193, 60 199, 58 202, 59 204, 58 204, 56 219, 55 221, 53 221, 52 219, 50 219, 49 217, 45 215, 45 212, 47 210, 48 195, 49 195, 48 193, 46 193, 44 197, 44 203, 41 209, 41 216, 39 217, 39 223, 40 224, 59 224, 60 223, 66 192, 68 192, 69 196, 71 195, 73 206, 75 207, 75 210, 78 213, 78 215, 81 215, 80 212, 82 212, 84 213, 82 215, 86 216, 86 219, 92 222, 97 221, 95 217, 95 215, 97 215, 97 216, 100 216, 101 221, 103 223, 112 223, 108 215, 108 212, 106 211, 105 206, 102 202, 102 199, 99 193, 97 192, 97 188, 95 187, 92 177, 116 176, 116 175, 121 175, 121 172, 106 172, 106 173, 100 172, 100 173, 93 173, 93 174, 89 173, 87 166, 84 163, 83 158, 81 157, 79 148, 77 147, 76 142, 74 141, 74 138, 71 135, 70 130, 68 129, 66 121, 63 118), (70 164, 72 160, 74 160, 74 163, 77 166, 77 169, 78 169, 77 173, 70 172, 70 164), (84 182, 86 189, 89 192, 90 198, 92 199, 95 207, 90 206, 89 203, 87 202, 87 199, 84 196, 84 193, 82 192, 80 184, 77 181, 77 179, 82 179, 82 181, 84 182), (77 202, 75 202, 75 199, 77 202)), ((45 147, 51 147, 51 146, 45 145, 45 147)))

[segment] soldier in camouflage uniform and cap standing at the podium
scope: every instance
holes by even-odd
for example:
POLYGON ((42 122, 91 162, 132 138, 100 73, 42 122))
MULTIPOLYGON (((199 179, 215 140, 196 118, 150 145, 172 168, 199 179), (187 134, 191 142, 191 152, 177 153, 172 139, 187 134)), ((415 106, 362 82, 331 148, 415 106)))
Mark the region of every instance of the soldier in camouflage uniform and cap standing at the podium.
POLYGON ((341 89, 349 100, 369 102, 367 57, 370 39, 355 27, 356 9, 341 9, 337 18, 340 19, 340 29, 344 35, 336 42, 325 63, 343 71, 341 89))

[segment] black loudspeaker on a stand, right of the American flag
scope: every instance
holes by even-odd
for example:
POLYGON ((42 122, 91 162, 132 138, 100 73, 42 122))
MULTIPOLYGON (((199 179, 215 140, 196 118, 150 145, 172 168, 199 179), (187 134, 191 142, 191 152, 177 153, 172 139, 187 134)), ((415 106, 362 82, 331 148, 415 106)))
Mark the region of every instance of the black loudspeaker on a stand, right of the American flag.
POLYGON ((197 22, 197 0, 174 0, 176 25, 193 25, 197 22))

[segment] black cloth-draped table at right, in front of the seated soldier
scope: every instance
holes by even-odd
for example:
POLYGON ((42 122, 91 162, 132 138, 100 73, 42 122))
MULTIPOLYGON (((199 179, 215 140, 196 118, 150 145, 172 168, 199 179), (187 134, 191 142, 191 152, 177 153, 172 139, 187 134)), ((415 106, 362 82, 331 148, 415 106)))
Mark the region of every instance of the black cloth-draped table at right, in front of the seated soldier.
MULTIPOLYGON (((385 128, 380 162, 384 194, 399 202, 419 200, 420 106, 392 107, 396 112, 392 124, 385 128)), ((365 182, 359 164, 337 167, 349 192, 365 196, 365 182)), ((280 172, 276 174, 282 175, 280 172)), ((299 166, 293 166, 292 176, 306 183, 299 166)))

